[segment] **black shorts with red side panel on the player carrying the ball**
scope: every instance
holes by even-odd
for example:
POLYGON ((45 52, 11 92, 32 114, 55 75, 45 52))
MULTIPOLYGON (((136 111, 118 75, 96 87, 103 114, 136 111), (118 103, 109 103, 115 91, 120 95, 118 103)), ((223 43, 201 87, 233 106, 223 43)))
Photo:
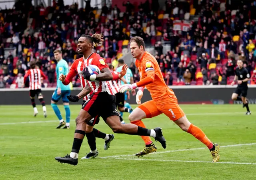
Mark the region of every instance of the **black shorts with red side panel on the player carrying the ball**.
POLYGON ((107 92, 93 93, 84 103, 82 109, 94 117, 94 122, 91 122, 92 125, 96 123, 98 117, 102 117, 106 121, 110 116, 119 116, 116 109, 116 97, 107 92))

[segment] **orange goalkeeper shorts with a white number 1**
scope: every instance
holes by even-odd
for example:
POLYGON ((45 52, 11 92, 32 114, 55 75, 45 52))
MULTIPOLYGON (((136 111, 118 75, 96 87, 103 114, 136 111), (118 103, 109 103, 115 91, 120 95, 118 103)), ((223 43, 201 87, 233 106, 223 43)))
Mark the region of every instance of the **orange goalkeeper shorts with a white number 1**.
POLYGON ((146 113, 147 118, 156 117, 164 113, 170 120, 176 121, 185 115, 178 103, 173 101, 164 105, 157 105, 151 100, 139 105, 138 108, 146 113))

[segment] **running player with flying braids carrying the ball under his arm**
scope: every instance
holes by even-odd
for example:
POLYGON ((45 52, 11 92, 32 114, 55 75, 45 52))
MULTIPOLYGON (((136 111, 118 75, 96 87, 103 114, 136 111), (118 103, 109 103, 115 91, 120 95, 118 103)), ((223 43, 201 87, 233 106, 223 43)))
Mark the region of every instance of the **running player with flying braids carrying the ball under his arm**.
MULTIPOLYGON (((78 39, 78 53, 83 55, 85 63, 85 68, 82 71, 82 75, 87 80, 87 85, 84 87, 84 89, 82 89, 82 91, 78 95, 70 95, 68 96, 68 99, 72 102, 77 102, 82 97, 88 95, 88 93, 90 93, 91 91, 93 93, 90 96, 90 98, 84 103, 78 117, 76 118, 76 130, 74 133, 72 151, 69 155, 66 155, 64 157, 55 157, 55 160, 57 160, 58 162, 77 165, 78 153, 85 135, 88 138, 91 150, 90 153, 88 153, 83 158, 87 159, 98 156, 95 136, 93 135, 92 129, 92 127, 96 123, 95 119, 98 116, 101 116, 103 120, 108 124, 108 126, 112 129, 112 131, 114 131, 115 133, 124 133, 128 135, 140 136, 153 136, 162 144, 165 143, 165 139, 162 135, 162 131, 160 128, 150 130, 143 127, 138 127, 135 124, 121 125, 119 113, 116 109, 116 97, 108 82, 110 80, 113 80, 113 77, 115 75, 112 75, 104 59, 101 59, 99 55, 93 53, 94 44, 101 44, 104 41, 103 38, 103 34, 93 34, 92 36, 82 35, 78 39), (97 75, 92 75, 86 67, 90 64, 98 66, 101 73, 97 75), (87 127, 87 125, 90 126, 87 127)), ((126 65, 126 69, 127 67, 128 66, 126 65)), ((125 75, 126 69, 124 69, 124 71, 121 71, 120 74, 124 73, 123 75, 125 75)), ((114 135, 110 139, 105 141, 104 149, 106 146, 109 146, 109 143, 113 138, 114 135)))

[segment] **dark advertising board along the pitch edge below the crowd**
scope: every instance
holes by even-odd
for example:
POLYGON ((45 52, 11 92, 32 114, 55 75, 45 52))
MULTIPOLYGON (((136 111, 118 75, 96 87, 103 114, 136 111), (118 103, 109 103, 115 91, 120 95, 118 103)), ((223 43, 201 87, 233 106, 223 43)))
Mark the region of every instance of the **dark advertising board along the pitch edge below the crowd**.
MULTIPOLYGON (((170 86, 178 98, 180 104, 228 104, 241 103, 231 100, 231 95, 235 90, 235 86, 215 85, 215 86, 170 86)), ((50 105, 52 93, 55 88, 42 88, 44 100, 50 105)), ((249 86, 248 102, 256 104, 256 85, 249 86)), ((81 88, 74 88, 71 94, 78 94, 81 88)), ((130 95, 128 100, 131 104, 136 104, 136 97, 130 95)), ((145 89, 142 97, 142 103, 151 100, 150 93, 145 89)), ((30 105, 28 89, 0 89, 0 105, 30 105)), ((36 103, 39 101, 36 99, 36 103)), ((79 101, 82 103, 82 100, 79 101)), ((73 103, 71 103, 73 104, 73 103)))

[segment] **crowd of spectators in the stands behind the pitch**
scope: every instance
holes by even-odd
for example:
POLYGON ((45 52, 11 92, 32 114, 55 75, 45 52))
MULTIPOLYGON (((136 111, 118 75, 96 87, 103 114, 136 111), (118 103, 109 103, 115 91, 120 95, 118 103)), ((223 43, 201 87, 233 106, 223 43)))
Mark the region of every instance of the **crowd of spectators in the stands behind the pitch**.
MULTIPOLYGON (((146 47, 154 46, 152 53, 167 85, 230 84, 237 59, 244 61, 251 74, 249 83, 255 84, 256 0, 198 2, 166 0, 160 8, 158 0, 151 4, 147 0, 138 7, 127 1, 123 3, 125 12, 117 6, 98 10, 89 3, 78 9, 76 3, 64 6, 63 1, 46 8, 16 4, 15 10, 1 10, 0 88, 22 87, 32 60, 48 76, 44 85, 55 87, 53 51, 62 50, 63 59, 71 66, 81 57, 76 51, 78 38, 96 32, 103 33, 105 41, 95 51, 114 67, 131 37, 144 38, 146 47), (188 22, 188 28, 174 28, 177 20, 188 22), (170 47, 167 52, 166 45, 170 47), (8 48, 14 48, 14 53, 6 54, 4 49, 8 48)), ((138 81, 134 63, 130 69, 138 81)), ((77 77, 72 83, 80 86, 77 77)))

